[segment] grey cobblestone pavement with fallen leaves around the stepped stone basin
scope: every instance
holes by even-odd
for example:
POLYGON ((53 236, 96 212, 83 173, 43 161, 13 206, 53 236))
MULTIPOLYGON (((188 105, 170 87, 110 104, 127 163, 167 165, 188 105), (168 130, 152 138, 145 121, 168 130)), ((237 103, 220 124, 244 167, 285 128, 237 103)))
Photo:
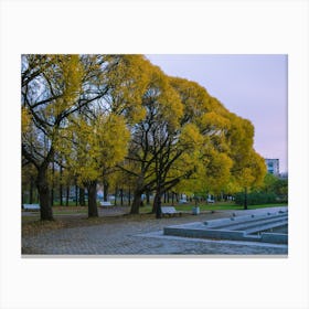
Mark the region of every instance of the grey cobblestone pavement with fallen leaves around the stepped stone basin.
MULTIPOLYGON (((242 214, 259 211, 241 211, 242 214)), ((265 209, 264 212, 269 211, 265 209)), ((276 207, 276 211, 279 211, 276 207)), ((237 215, 237 211, 235 211, 237 215)), ((22 253, 43 255, 287 255, 286 245, 249 242, 193 239, 162 235, 164 226, 230 216, 232 212, 199 216, 148 219, 62 228, 22 238, 22 253)))

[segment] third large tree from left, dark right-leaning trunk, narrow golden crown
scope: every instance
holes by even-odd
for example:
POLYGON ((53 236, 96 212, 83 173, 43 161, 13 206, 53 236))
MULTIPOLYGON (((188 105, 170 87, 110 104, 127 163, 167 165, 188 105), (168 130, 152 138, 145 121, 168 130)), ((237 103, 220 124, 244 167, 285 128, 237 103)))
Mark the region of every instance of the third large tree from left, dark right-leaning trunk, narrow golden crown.
POLYGON ((129 156, 120 168, 135 177, 131 213, 138 213, 141 194, 146 190, 158 189, 156 160, 167 143, 171 142, 168 132, 178 126, 182 105, 178 94, 169 85, 159 67, 147 65, 148 83, 142 94, 146 117, 132 126, 129 156))

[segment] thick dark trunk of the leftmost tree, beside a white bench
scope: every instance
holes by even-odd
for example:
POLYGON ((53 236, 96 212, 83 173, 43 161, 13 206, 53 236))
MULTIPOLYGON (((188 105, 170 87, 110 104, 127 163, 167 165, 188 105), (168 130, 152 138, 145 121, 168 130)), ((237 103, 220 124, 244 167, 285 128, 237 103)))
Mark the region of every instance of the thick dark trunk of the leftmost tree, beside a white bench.
POLYGON ((50 187, 47 182, 46 168, 42 168, 38 172, 36 187, 40 200, 41 220, 53 221, 53 210, 51 205, 50 187))

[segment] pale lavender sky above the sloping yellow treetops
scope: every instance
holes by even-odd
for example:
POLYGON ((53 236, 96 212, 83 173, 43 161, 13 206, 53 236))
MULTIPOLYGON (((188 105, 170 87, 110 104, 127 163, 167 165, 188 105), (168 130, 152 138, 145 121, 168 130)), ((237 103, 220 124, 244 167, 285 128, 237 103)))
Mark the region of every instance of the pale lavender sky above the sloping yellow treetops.
POLYGON ((204 86, 255 127, 255 150, 288 171, 287 55, 146 55, 171 76, 204 86))

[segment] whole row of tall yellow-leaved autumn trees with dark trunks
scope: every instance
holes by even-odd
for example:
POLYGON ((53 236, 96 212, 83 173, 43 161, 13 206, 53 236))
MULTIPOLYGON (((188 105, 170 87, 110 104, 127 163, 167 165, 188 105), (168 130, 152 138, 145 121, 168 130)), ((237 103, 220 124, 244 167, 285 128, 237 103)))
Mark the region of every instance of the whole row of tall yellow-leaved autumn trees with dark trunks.
POLYGON ((141 194, 235 192, 263 181, 254 127, 194 82, 167 76, 141 55, 22 55, 22 164, 32 168, 41 220, 53 220, 53 173, 88 192, 111 182, 141 194), (34 170, 34 171, 33 171, 34 170))

